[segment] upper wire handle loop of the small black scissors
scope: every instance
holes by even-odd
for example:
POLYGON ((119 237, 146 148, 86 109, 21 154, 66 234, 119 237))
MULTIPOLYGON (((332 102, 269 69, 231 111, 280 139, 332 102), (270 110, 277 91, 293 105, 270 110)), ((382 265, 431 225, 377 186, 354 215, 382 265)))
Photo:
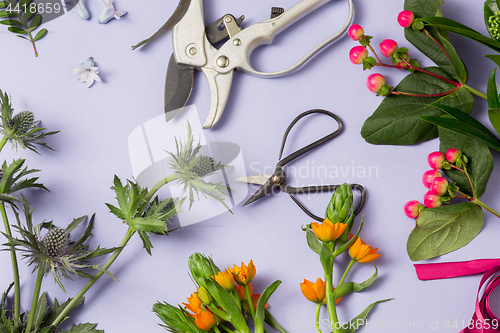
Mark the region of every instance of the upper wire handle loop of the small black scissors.
POLYGON ((288 128, 286 129, 285 131, 285 134, 283 135, 283 141, 281 142, 281 149, 280 149, 280 154, 279 154, 279 157, 278 159, 280 159, 280 161, 278 162, 277 164, 277 167, 283 167, 285 164, 287 164, 288 162, 296 159, 297 157, 307 153, 308 151, 324 144, 325 142, 333 139, 334 137, 336 137, 337 135, 340 134, 340 132, 342 132, 344 128, 344 124, 342 123, 342 120, 334 113, 330 112, 330 111, 326 111, 326 110, 322 110, 322 109, 313 109, 313 110, 309 110, 309 111, 306 111, 306 112, 303 112, 301 114, 299 114, 291 123, 290 125, 288 125, 288 128), (335 121, 337 122, 338 124, 338 128, 335 132, 332 132, 330 134, 328 134, 327 136, 324 136, 322 137, 321 139, 319 140, 316 140, 314 141, 313 143, 310 143, 308 144, 307 146, 305 146, 304 148, 302 149, 299 149, 297 150, 296 152, 294 152, 293 154, 285 157, 284 159, 281 160, 281 156, 283 155, 283 150, 285 148, 285 143, 286 143, 286 139, 288 137, 288 134, 290 133, 292 127, 302 118, 310 115, 310 114, 314 114, 314 113, 321 113, 321 114, 325 114, 333 119, 335 119, 335 121))

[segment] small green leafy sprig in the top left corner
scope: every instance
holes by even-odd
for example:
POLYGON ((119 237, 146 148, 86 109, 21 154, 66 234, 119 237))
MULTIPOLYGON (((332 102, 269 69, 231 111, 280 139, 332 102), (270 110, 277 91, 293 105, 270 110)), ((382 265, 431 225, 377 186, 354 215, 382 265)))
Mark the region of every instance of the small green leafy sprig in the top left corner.
POLYGON ((36 6, 29 6, 31 1, 0 1, 0 24, 9 26, 7 29, 10 32, 29 41, 35 51, 35 57, 38 57, 35 42, 47 34, 47 29, 39 30, 33 37, 33 32, 42 24, 42 15, 37 14, 36 6))

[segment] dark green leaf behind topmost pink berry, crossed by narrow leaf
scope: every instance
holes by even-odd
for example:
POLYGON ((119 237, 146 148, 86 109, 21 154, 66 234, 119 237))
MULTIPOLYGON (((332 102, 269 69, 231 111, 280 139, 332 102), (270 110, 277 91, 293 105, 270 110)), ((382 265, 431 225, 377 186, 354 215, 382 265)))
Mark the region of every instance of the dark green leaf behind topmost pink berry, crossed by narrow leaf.
MULTIPOLYGON (((442 16, 440 6, 443 4, 441 0, 407 0, 405 1, 405 10, 413 12, 415 17, 425 16, 442 16)), ((443 52, 442 45, 437 41, 441 40, 439 34, 445 39, 448 39, 446 31, 429 27, 428 33, 430 38, 424 31, 416 31, 410 28, 405 28, 406 39, 413 44, 420 52, 425 54, 429 59, 439 66, 444 72, 449 75, 456 75, 455 69, 450 59, 443 52)))

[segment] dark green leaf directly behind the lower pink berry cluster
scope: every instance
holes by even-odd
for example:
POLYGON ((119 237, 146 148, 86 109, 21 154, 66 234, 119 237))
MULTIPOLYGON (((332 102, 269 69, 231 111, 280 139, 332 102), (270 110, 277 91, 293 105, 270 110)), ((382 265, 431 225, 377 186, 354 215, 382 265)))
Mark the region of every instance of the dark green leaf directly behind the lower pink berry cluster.
MULTIPOLYGON (((493 156, 490 150, 474 139, 443 128, 439 129, 439 140, 441 141, 439 150, 443 153, 446 153, 450 148, 455 148, 460 149, 467 156, 469 160, 467 170, 472 178, 475 195, 477 199, 481 198, 486 191, 486 185, 493 170, 493 156)), ((457 183, 460 191, 472 195, 469 181, 464 173, 453 169, 444 172, 457 183)))

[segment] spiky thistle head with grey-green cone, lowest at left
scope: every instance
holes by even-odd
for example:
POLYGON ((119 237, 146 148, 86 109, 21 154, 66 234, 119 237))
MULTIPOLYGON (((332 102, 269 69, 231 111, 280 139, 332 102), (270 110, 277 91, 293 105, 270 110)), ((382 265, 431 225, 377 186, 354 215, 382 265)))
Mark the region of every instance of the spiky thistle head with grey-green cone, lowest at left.
MULTIPOLYGON (((22 200, 26 226, 22 225, 19 214, 15 212, 17 219, 17 226, 15 228, 19 231, 22 239, 4 234, 9 240, 4 245, 13 246, 16 251, 22 253, 22 256, 28 261, 28 265, 34 266, 33 271, 41 270, 44 276, 52 273, 54 280, 63 291, 65 290, 61 282, 61 277, 70 280, 72 280, 71 275, 91 278, 92 275, 86 273, 86 269, 102 271, 99 265, 90 264, 88 260, 114 252, 117 248, 101 249, 97 247, 95 250, 87 251, 88 246, 83 243, 91 235, 92 227, 94 226, 94 216, 90 219, 80 239, 76 242, 71 242, 71 231, 85 221, 87 219, 86 216, 74 219, 65 229, 56 227, 52 222, 42 222, 33 227, 33 210, 30 210, 24 196, 22 196, 22 200), (44 229, 47 230, 47 233, 42 235, 44 229)), ((106 273, 110 275, 108 272, 106 273)))

